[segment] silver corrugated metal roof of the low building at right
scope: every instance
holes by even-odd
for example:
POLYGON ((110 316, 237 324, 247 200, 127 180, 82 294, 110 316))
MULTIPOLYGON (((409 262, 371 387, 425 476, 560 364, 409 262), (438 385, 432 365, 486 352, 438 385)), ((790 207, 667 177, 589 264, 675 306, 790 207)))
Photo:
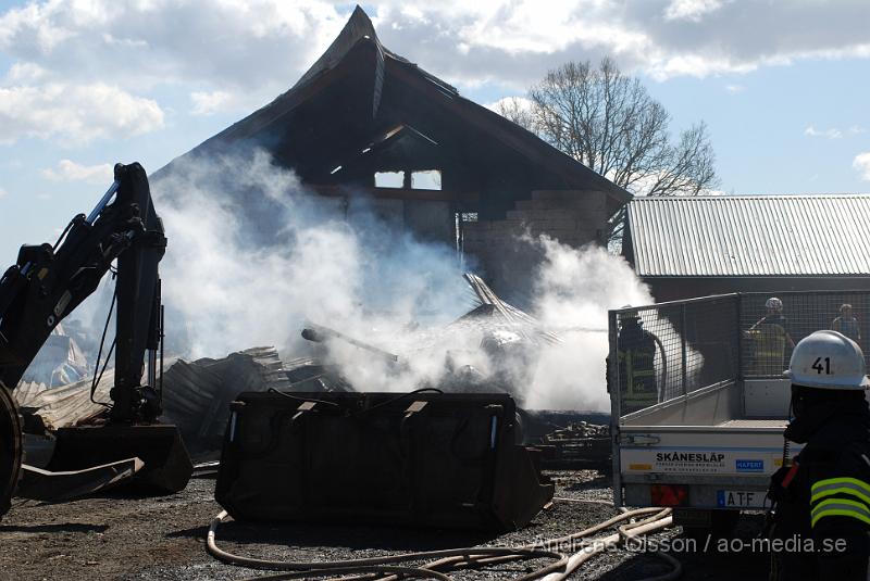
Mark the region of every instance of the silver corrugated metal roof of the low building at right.
POLYGON ((635 198, 648 277, 870 276, 870 195, 635 198))

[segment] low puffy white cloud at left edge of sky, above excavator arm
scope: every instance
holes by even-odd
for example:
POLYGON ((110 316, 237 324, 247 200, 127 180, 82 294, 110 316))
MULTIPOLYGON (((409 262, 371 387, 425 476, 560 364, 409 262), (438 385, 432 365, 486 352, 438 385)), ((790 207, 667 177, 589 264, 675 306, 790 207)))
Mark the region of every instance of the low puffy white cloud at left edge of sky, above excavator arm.
POLYGON ((0 87, 0 143, 60 137, 70 144, 125 138, 163 126, 156 101, 104 84, 0 87))

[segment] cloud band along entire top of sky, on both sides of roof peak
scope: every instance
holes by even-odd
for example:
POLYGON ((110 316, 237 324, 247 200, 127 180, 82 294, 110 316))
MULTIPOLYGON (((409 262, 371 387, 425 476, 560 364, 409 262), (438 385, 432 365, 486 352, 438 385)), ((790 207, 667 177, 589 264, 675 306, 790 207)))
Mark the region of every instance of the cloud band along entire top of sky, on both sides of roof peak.
MULTIPOLYGON (((114 72, 112 83, 132 94, 182 84, 206 115, 286 90, 351 10, 326 0, 37 1, 0 13, 0 51, 18 66, 14 76, 40 83, 104 83, 114 72)), ((467 87, 525 89, 562 62, 604 55, 658 79, 870 58, 870 4, 848 0, 751 9, 554 0, 547 10, 532 0, 383 0, 369 12, 388 48, 467 87)))

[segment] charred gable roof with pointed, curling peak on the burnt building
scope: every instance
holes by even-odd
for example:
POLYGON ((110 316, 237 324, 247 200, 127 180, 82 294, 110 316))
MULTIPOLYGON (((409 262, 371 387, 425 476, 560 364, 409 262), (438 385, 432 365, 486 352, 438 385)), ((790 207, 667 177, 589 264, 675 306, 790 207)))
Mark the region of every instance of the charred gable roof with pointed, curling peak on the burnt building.
MULTIPOLYGON (((434 106, 437 111, 447 112, 455 117, 469 134, 485 135, 487 138, 497 140, 531 163, 540 166, 543 172, 557 176, 564 185, 564 189, 602 190, 620 204, 631 199, 631 194, 623 188, 519 125, 461 97, 459 91, 449 84, 384 48, 371 20, 360 7, 356 8, 348 23, 326 52, 288 91, 206 140, 190 153, 209 151, 213 148, 226 148, 234 142, 254 139, 270 132, 291 134, 298 123, 293 117, 293 113, 297 109, 326 92, 331 86, 338 85, 350 77, 364 79, 365 93, 360 97, 364 102, 360 103, 359 108, 355 108, 352 114, 348 111, 337 111, 334 114, 336 116, 353 115, 355 127, 364 125, 366 119, 362 117, 368 117, 369 114, 371 116, 368 118, 368 123, 373 126, 377 125, 382 113, 381 98, 385 90, 385 84, 406 84, 413 86, 418 92, 424 93, 428 106, 434 106), (364 115, 362 115, 363 112, 365 112, 364 115), (289 125, 283 126, 282 124, 289 125)), ((408 103, 408 105, 418 106, 418 103, 408 103)), ((352 130, 348 130, 348 135, 355 134, 352 130)), ((364 143, 361 147, 364 147, 364 143)), ((293 160, 289 161, 293 162, 293 160)), ((325 162, 341 163, 336 160, 325 162)))

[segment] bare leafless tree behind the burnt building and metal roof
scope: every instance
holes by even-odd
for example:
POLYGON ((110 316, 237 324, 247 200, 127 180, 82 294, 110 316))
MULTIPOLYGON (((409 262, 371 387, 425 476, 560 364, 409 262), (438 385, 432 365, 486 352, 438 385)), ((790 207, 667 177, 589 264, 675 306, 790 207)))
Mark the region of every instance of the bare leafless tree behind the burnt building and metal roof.
MULTIPOLYGON (((707 126, 672 139, 661 103, 610 59, 550 71, 529 100, 525 109, 502 101, 499 112, 634 194, 696 195, 718 184, 707 126)), ((623 222, 622 214, 611 220, 611 240, 623 222)))

